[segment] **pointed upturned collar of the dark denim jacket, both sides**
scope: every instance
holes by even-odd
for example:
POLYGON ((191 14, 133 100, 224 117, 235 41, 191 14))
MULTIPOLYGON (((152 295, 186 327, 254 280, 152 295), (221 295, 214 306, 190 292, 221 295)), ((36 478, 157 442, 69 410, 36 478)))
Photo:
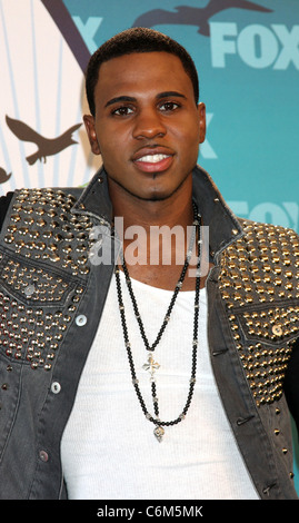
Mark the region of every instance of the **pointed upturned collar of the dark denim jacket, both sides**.
MULTIPOLYGON (((203 225, 209 226, 209 243, 212 256, 243 235, 242 228, 206 170, 193 169, 193 199, 198 205, 203 225)), ((83 190, 72 209, 76 214, 89 215, 106 225, 112 221, 112 205, 109 197, 107 174, 101 167, 83 190)))

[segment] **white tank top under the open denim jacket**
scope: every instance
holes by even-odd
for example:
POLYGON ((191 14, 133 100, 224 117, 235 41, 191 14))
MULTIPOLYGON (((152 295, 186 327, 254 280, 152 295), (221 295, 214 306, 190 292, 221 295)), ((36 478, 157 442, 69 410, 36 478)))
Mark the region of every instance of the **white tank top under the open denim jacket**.
MULTIPOLYGON (((137 377, 153 414, 148 352, 141 339, 124 277, 121 285, 137 377)), ((132 280, 150 343, 172 293, 132 280)), ((186 404, 191 369, 193 292, 181 292, 161 342, 152 353, 160 420, 176 420, 186 404)), ((82 339, 82 344, 84 341, 82 339)), ((84 366, 61 444, 70 499, 253 500, 258 499, 223 412, 207 341, 207 296, 200 292, 197 383, 186 418, 153 435, 139 404, 111 282, 97 336, 84 366)))

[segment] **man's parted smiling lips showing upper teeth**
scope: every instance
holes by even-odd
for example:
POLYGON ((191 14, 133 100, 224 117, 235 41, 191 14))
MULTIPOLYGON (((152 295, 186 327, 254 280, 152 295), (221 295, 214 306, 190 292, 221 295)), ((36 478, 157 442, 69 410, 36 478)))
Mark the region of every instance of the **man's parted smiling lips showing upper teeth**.
POLYGON ((142 172, 162 172, 171 166, 173 156, 167 148, 142 148, 133 156, 132 161, 142 172))

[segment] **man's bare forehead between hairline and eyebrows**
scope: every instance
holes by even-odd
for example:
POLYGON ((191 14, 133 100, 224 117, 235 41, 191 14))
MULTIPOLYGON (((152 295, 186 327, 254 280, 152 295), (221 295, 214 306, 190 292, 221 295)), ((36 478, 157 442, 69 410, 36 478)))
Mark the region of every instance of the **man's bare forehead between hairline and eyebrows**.
POLYGON ((123 55, 103 62, 94 90, 97 101, 114 96, 147 96, 151 92, 180 90, 193 97, 191 79, 180 59, 169 52, 123 55))

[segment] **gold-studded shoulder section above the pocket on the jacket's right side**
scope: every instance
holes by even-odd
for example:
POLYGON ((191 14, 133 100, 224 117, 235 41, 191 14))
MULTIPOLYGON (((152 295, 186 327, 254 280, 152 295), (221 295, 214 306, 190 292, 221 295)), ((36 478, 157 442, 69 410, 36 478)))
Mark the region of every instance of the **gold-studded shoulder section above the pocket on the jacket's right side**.
POLYGON ((243 235, 222 253, 219 286, 229 307, 299 298, 299 237, 292 229, 240 219, 243 235))

